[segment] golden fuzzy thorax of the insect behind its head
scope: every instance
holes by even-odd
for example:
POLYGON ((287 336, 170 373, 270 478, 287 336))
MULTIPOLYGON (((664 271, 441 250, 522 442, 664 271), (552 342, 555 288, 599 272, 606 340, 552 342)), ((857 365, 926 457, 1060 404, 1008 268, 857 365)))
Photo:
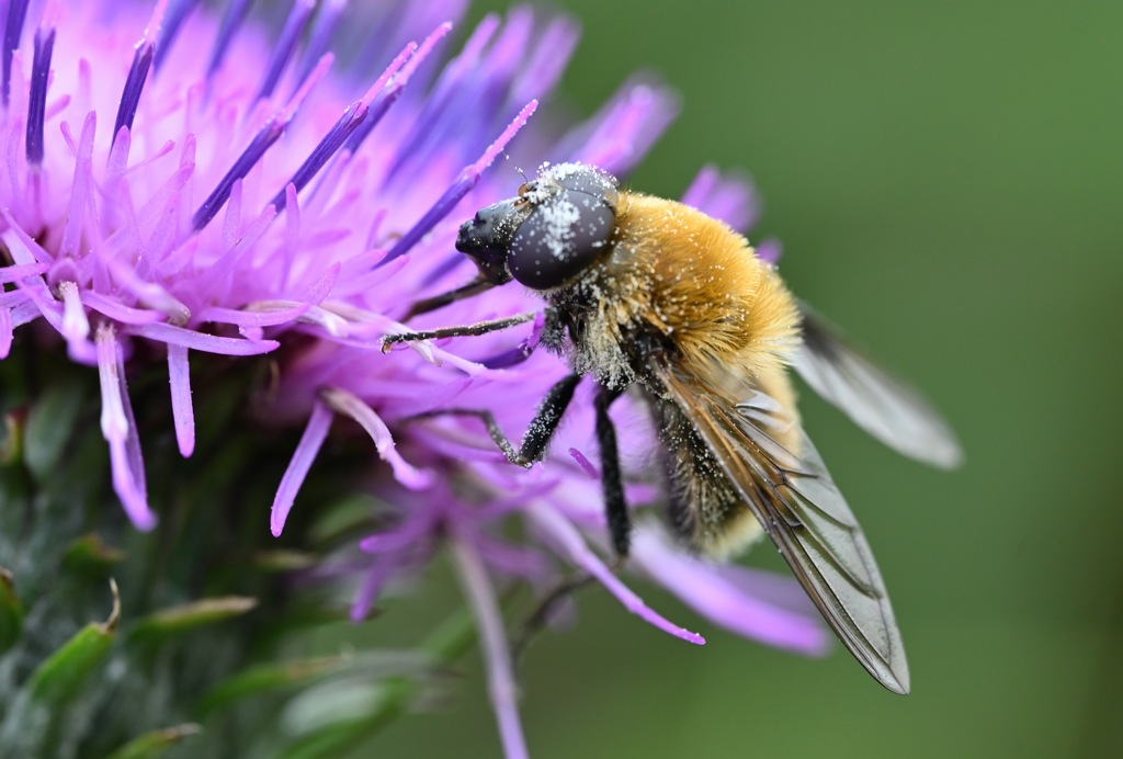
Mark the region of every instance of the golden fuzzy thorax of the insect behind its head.
POLYGON ((633 381, 620 353, 645 324, 674 344, 687 374, 714 387, 783 372, 798 344, 798 311, 745 237, 688 205, 630 192, 620 193, 617 230, 609 257, 558 299, 597 304, 585 314, 595 324, 577 346, 586 354, 575 356, 577 371, 610 386, 633 381))

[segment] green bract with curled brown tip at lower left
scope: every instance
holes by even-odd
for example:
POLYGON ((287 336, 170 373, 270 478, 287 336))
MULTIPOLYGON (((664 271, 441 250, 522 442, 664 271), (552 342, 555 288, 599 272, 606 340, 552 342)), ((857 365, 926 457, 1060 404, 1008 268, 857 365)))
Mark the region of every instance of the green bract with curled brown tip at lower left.
POLYGON ((85 625, 38 666, 29 682, 35 701, 52 710, 64 706, 106 658, 117 637, 117 623, 121 618, 121 597, 117 583, 110 579, 109 585, 113 591, 113 611, 109 619, 104 623, 91 622, 85 625))

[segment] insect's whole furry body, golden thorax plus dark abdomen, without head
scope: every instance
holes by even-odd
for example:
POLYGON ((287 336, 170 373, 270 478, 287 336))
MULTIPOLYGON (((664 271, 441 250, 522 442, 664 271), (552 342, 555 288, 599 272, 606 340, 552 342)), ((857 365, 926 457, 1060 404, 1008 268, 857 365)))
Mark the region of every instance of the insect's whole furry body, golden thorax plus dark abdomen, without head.
MULTIPOLYGON (((741 235, 682 203, 621 193, 610 245, 581 277, 546 293, 568 328, 569 363, 609 387, 643 387, 667 452, 676 531, 703 554, 738 552, 759 525, 651 362, 733 399, 761 390, 797 420, 786 371, 800 340, 795 299, 741 235)), ((794 436, 777 442, 797 454, 794 436)))

